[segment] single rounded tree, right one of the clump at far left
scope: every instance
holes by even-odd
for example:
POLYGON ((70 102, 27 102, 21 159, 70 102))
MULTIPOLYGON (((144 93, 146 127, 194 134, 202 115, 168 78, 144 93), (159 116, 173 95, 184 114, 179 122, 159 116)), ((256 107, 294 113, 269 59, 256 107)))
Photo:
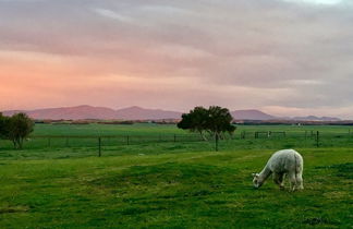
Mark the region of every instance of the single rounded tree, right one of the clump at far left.
POLYGON ((26 113, 16 113, 9 119, 7 137, 15 148, 23 147, 23 141, 34 129, 34 121, 26 113))

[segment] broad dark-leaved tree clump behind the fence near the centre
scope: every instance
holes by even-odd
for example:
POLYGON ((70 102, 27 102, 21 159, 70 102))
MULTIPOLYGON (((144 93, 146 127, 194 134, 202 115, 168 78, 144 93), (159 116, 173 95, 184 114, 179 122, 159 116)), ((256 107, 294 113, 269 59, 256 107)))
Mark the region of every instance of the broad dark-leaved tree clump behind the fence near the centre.
POLYGON ((178 128, 197 132, 207 141, 207 135, 218 138, 228 133, 232 135, 236 128, 232 125, 233 117, 227 108, 211 106, 208 109, 195 107, 188 113, 183 113, 178 128))

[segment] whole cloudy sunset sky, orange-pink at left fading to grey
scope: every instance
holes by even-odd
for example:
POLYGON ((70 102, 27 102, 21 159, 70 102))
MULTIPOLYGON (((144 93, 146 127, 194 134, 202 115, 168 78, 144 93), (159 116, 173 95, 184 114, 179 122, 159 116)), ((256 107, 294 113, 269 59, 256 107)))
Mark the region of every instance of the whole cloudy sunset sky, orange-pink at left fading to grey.
POLYGON ((353 119, 352 0, 0 0, 0 110, 353 119))

